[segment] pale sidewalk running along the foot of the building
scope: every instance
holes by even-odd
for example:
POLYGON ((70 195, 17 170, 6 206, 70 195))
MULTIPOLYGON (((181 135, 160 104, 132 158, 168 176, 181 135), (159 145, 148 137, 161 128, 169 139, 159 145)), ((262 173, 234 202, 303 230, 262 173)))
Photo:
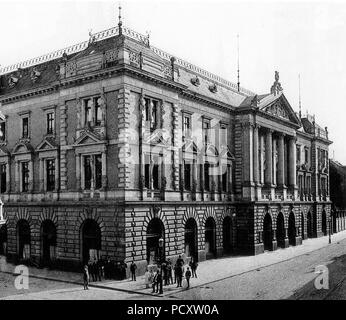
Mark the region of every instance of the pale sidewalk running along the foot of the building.
MULTIPOLYGON (((331 245, 343 239, 346 239, 346 231, 332 235, 331 245)), ((297 247, 278 249, 272 252, 265 252, 258 256, 235 256, 203 261, 199 263, 197 269, 198 278, 191 278, 190 285, 192 288, 199 286, 207 287, 207 285, 211 282, 221 281, 225 278, 233 277, 259 268, 263 268, 265 266, 290 260, 294 257, 305 255, 309 252, 327 247, 328 245, 328 236, 325 236, 317 239, 304 240, 303 244, 297 247)), ((4 263, 0 260, 0 271, 12 273, 13 265, 7 265, 7 270, 4 270, 4 263)), ((82 285, 82 276, 79 273, 30 268, 30 275, 32 277, 52 281, 72 283, 78 286, 82 285)), ((169 285, 163 287, 163 295, 152 294, 151 288, 145 288, 144 276, 137 277, 137 281, 126 279, 122 281, 107 280, 102 282, 91 282, 90 287, 98 290, 107 289, 107 291, 111 290, 114 293, 115 291, 118 291, 119 294, 121 294, 121 292, 136 293, 140 295, 151 296, 152 298, 162 296, 169 297, 170 295, 185 290, 184 288, 176 288, 176 285, 169 285)), ((87 293, 85 293, 85 296, 83 292, 81 294, 81 299, 88 299, 87 293)), ((68 299, 68 295, 66 299, 68 299)))

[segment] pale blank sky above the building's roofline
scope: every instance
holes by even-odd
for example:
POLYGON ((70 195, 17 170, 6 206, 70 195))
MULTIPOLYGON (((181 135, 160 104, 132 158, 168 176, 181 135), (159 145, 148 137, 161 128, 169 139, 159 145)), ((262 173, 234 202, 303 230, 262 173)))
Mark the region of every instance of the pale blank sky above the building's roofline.
MULTIPOLYGON (((221 77, 268 93, 274 72, 298 111, 314 114, 333 141, 330 156, 346 165, 346 2, 120 2, 126 27, 150 32, 152 45, 221 77), (345 103, 345 105, 344 105, 345 103)), ((116 26, 118 1, 0 0, 0 65, 88 40, 116 26)))

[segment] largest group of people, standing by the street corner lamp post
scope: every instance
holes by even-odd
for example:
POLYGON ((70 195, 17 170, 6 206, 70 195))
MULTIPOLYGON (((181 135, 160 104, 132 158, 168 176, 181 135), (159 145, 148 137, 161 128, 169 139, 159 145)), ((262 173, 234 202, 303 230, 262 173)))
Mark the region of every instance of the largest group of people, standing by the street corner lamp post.
POLYGON ((190 288, 190 278, 197 278, 197 266, 198 263, 194 259, 191 259, 189 266, 186 267, 184 272, 184 260, 181 256, 178 257, 174 267, 170 259, 161 263, 158 266, 156 273, 151 269, 146 270, 144 274, 144 281, 147 288, 152 287, 153 293, 162 293, 163 286, 177 284, 177 288, 182 287, 183 277, 185 275, 187 289, 190 288), (174 281, 173 281, 174 272, 174 281))

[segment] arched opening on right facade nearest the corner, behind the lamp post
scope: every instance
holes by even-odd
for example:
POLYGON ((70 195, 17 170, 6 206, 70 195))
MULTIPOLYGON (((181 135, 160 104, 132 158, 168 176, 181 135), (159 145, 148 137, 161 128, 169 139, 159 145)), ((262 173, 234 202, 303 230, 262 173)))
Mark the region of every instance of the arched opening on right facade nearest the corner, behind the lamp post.
POLYGON ((147 227, 147 261, 155 264, 160 263, 160 259, 165 259, 165 227, 159 218, 153 218, 147 227), (162 248, 160 238, 163 239, 162 248))

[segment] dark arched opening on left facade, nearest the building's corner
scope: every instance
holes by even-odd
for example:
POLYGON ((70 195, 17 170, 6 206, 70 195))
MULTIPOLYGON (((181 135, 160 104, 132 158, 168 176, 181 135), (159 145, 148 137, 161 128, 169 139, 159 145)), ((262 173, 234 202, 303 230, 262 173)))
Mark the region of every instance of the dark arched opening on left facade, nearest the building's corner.
POLYGON ((86 219, 81 228, 82 232, 82 262, 99 258, 101 250, 101 229, 93 219, 86 219))

